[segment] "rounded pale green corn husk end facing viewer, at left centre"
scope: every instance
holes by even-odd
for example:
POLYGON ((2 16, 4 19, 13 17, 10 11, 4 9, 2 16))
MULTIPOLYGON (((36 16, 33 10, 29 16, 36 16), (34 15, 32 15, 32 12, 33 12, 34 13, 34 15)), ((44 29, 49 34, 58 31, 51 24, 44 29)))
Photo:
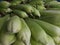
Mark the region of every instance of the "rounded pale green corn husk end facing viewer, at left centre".
POLYGON ((7 29, 10 33, 17 33, 21 30, 21 20, 18 16, 13 16, 8 22, 7 29))

